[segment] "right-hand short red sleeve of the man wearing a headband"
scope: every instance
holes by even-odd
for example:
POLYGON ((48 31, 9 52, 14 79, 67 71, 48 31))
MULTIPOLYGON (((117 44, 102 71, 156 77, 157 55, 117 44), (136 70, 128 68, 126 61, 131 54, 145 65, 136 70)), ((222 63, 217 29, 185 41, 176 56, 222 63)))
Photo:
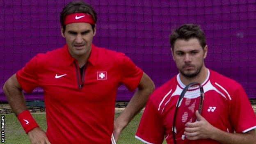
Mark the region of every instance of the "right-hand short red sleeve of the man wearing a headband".
POLYGON ((129 91, 134 91, 139 85, 143 71, 125 55, 123 55, 123 65, 121 68, 121 82, 126 85, 129 91))

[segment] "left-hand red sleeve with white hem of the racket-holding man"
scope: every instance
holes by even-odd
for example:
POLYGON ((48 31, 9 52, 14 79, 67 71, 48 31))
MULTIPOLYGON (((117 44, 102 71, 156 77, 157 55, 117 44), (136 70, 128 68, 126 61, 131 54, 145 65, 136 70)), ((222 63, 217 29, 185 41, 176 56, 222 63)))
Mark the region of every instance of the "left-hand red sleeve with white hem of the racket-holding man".
POLYGON ((165 128, 162 125, 160 113, 151 99, 146 104, 135 137, 146 144, 162 144, 164 140, 165 128))

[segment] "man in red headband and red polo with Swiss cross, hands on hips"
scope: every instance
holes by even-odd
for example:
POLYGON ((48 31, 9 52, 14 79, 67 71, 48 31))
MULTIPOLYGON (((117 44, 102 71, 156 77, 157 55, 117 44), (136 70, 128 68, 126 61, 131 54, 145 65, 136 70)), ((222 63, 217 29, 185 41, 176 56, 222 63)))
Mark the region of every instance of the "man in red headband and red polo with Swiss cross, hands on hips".
POLYGON ((32 144, 110 144, 144 107, 154 89, 152 80, 123 53, 92 44, 96 12, 85 2, 70 2, 60 22, 63 48, 38 54, 4 85, 4 91, 32 144), (114 121, 117 88, 136 91, 114 121), (47 131, 27 110, 22 90, 42 87, 47 131))

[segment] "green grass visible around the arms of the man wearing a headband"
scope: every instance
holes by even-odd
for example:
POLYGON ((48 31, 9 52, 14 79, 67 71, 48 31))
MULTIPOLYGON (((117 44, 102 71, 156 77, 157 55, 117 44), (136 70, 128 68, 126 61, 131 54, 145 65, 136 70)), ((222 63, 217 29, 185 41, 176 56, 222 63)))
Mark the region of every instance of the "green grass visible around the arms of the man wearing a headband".
MULTIPOLYGON (((32 114, 39 126, 46 130, 46 116, 45 114, 32 114)), ((118 117, 117 113, 115 117, 118 117)), ((144 144, 135 138, 135 133, 139 124, 142 113, 129 123, 128 126, 122 131, 118 144, 144 144)), ((30 141, 18 122, 14 114, 5 114, 5 144, 30 144, 30 141)))

